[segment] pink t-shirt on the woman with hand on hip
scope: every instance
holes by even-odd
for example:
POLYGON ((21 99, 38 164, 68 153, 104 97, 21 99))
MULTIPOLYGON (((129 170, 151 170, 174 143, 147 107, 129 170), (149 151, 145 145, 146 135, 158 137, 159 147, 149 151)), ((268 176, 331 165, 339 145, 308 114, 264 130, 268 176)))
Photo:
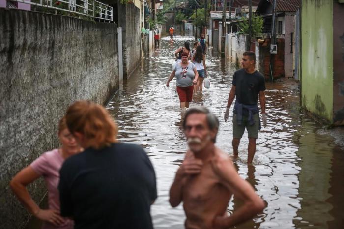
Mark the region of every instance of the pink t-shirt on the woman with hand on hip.
MULTIPOLYGON (((59 171, 64 159, 58 152, 58 149, 43 153, 39 158, 31 163, 32 169, 44 177, 48 189, 48 206, 49 209, 60 210, 60 200, 58 192, 58 182, 60 179, 59 171)), ((64 218, 61 226, 54 226, 49 222, 44 222, 42 229, 73 229, 74 222, 64 218)))

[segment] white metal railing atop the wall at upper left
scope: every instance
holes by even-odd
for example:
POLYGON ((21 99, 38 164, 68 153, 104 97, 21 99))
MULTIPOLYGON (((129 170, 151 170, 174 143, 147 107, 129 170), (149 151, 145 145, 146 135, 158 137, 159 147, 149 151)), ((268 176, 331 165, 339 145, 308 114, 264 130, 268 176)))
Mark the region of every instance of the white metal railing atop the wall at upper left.
POLYGON ((12 0, 30 5, 41 6, 92 18, 113 20, 113 8, 96 0, 12 0))

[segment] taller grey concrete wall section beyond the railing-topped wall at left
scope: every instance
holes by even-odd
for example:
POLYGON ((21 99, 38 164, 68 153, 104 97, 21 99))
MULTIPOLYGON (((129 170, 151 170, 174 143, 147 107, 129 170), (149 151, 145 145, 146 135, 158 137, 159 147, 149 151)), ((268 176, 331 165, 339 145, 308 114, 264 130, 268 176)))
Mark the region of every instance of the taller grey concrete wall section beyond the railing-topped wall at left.
POLYGON ((134 4, 118 4, 118 26, 122 27, 123 77, 130 74, 141 62, 140 9, 134 4))

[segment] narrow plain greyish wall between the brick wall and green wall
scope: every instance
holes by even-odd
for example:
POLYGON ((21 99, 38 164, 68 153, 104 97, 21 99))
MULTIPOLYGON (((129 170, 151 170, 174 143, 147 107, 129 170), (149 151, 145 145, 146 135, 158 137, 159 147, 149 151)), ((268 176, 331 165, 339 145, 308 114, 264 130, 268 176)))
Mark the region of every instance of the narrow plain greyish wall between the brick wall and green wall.
POLYGON ((293 77, 293 55, 291 52, 291 36, 294 33, 294 18, 295 15, 285 15, 284 17, 284 75, 285 77, 293 77))

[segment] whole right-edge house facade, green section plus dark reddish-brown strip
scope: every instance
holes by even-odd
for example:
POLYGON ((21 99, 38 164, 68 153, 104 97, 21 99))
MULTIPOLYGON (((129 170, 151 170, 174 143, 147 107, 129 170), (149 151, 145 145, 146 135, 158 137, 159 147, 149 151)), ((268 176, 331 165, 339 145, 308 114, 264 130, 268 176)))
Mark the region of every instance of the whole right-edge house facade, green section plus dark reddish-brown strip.
POLYGON ((344 125, 344 0, 318 2, 302 1, 301 105, 344 125))

